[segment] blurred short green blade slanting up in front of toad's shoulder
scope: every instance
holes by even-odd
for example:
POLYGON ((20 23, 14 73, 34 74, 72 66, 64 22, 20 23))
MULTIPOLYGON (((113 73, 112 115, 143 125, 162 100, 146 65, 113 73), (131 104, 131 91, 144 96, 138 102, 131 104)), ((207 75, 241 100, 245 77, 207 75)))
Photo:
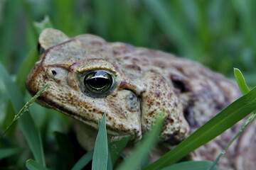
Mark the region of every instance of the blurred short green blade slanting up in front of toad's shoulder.
POLYGON ((156 120, 156 124, 153 127, 151 132, 147 133, 146 137, 142 142, 134 149, 132 157, 129 157, 118 170, 129 170, 137 169, 139 164, 147 157, 147 154, 150 152, 150 148, 153 147, 157 142, 157 137, 159 136, 162 128, 163 120, 159 118, 156 120))

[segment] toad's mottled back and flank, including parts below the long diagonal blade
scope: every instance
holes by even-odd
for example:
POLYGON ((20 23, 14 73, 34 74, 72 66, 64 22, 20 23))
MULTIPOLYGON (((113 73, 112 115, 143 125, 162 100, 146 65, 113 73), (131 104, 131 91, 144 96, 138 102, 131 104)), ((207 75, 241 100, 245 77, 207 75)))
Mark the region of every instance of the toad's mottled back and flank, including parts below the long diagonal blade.
MULTIPOLYGON (((115 60, 125 66, 124 72, 131 75, 130 79, 134 78, 135 72, 154 72, 169 81, 182 103, 183 114, 190 125, 190 133, 241 96, 234 81, 191 60, 119 42, 108 45, 113 50, 115 60)), ((245 120, 241 120, 215 140, 196 149, 190 154, 191 159, 213 161, 244 123, 245 120)), ((220 159, 220 169, 251 169, 256 166, 255 153, 250 149, 256 147, 256 137, 252 135, 255 128, 254 121, 250 128, 238 137, 228 149, 228 156, 220 159)))

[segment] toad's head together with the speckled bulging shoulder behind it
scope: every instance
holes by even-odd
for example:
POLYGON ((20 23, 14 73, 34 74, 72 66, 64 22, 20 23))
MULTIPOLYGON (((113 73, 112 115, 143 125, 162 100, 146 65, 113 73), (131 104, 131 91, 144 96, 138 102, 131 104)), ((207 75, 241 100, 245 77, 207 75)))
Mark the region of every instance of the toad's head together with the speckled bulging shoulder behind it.
POLYGON ((154 72, 137 76, 137 67, 127 74, 122 63, 114 60, 110 44, 95 35, 68 38, 59 30, 43 30, 41 56, 26 81, 28 91, 36 94, 49 82, 38 98, 41 105, 95 128, 107 113, 111 135, 137 139, 151 128, 161 110, 166 118, 163 139, 182 140, 188 125, 170 84, 154 72))

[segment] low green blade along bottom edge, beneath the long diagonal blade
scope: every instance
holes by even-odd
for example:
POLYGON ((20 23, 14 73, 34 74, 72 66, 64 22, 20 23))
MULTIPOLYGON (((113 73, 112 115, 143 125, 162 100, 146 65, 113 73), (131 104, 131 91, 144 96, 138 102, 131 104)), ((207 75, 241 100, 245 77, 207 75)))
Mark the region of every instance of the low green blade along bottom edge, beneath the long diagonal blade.
MULTIPOLYGON (((206 170, 211 164, 213 162, 210 161, 189 161, 174 164, 161 170, 206 170)), ((218 170, 218 167, 214 166, 213 170, 218 170)))

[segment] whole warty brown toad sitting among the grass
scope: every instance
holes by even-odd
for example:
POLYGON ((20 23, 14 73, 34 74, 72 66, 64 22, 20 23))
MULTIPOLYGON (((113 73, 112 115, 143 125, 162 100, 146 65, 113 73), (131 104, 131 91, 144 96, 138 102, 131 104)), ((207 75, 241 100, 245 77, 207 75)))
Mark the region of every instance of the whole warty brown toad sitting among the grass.
MULTIPOLYGON (((160 50, 107 42, 97 35, 74 38, 46 28, 38 38, 39 59, 28 74, 26 88, 37 103, 73 118, 78 141, 93 148, 98 122, 106 115, 108 137, 130 137, 137 143, 159 116, 164 125, 151 158, 161 157, 210 118, 241 96, 233 80, 198 62, 160 50)), ((213 161, 228 144, 242 121, 223 135, 188 155, 191 160, 213 161)), ((252 123, 238 138, 220 169, 253 169, 256 138, 252 123)))

